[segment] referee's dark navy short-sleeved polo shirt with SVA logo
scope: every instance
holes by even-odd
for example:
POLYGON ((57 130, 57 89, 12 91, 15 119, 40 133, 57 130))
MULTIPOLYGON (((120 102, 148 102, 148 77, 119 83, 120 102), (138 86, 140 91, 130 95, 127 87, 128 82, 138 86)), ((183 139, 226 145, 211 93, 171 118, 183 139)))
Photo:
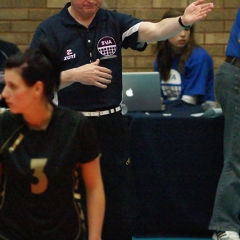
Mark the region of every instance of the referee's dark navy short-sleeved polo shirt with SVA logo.
POLYGON ((117 107, 122 100, 122 48, 138 49, 140 20, 116 11, 99 9, 86 28, 68 12, 70 3, 56 15, 41 22, 31 46, 42 37, 59 52, 63 70, 100 59, 100 65, 112 70, 112 82, 106 89, 73 83, 58 92, 59 105, 78 111, 95 111, 117 107))

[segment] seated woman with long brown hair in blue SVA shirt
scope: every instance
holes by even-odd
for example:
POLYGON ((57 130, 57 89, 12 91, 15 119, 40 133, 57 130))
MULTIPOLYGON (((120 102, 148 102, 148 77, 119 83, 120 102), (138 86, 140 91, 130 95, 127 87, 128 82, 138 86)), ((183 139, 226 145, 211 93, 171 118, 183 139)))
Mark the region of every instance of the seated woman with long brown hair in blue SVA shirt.
MULTIPOLYGON (((181 9, 169 9, 164 18, 183 14, 181 9)), ((154 71, 161 76, 164 100, 180 99, 189 104, 214 101, 214 69, 211 56, 194 39, 194 26, 154 47, 154 71)))

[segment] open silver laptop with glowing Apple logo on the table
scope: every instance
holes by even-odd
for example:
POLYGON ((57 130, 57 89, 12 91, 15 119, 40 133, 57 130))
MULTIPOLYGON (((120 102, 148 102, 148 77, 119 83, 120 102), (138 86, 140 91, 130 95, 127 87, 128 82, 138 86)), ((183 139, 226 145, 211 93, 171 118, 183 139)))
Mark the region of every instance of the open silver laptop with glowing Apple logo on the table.
POLYGON ((158 72, 123 72, 122 105, 128 112, 161 112, 160 76, 158 72))

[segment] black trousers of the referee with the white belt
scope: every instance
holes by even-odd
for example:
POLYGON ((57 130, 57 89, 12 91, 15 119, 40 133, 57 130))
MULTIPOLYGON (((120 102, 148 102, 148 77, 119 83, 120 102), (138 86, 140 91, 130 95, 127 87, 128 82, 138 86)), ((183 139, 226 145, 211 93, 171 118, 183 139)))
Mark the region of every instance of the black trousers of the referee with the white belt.
POLYGON ((128 119, 120 112, 90 117, 102 152, 101 171, 106 196, 102 240, 131 240, 133 189, 128 119))

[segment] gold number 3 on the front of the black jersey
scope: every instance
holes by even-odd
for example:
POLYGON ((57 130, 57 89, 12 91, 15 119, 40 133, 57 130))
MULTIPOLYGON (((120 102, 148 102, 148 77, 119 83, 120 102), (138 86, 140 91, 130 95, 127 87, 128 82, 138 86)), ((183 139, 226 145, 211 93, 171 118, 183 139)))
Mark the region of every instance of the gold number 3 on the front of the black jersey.
POLYGON ((38 179, 37 183, 31 184, 31 191, 34 194, 41 194, 47 189, 48 179, 46 174, 43 172, 46 163, 47 158, 31 159, 30 167, 34 170, 33 177, 36 177, 38 179))

